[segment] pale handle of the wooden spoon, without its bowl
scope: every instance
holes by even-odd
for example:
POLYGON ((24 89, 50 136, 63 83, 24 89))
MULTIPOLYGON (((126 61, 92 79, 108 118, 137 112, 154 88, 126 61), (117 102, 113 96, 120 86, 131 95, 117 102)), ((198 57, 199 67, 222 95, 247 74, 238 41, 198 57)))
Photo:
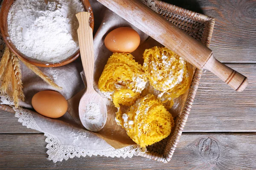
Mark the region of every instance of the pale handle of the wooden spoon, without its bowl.
MULTIPOLYGON (((89 25, 89 12, 76 14, 79 21, 77 29, 81 60, 84 68, 84 75, 87 82, 87 91, 93 90, 94 51, 93 51, 93 30, 89 25)), ((94 90, 93 90, 94 91, 94 90)))

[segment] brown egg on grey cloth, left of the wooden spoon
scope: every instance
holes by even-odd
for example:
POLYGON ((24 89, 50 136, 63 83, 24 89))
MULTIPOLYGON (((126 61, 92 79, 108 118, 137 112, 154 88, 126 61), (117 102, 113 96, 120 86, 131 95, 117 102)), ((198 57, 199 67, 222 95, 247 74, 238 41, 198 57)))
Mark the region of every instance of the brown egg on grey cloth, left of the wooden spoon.
POLYGON ((40 91, 33 96, 32 106, 43 116, 59 118, 67 111, 67 100, 56 91, 40 91))

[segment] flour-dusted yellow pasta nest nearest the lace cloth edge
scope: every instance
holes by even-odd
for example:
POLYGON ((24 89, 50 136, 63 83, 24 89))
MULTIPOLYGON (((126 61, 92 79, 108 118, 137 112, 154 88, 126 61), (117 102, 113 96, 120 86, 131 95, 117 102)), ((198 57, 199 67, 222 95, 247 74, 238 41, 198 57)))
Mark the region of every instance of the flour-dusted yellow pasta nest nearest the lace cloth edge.
POLYGON ((122 119, 128 136, 141 147, 166 138, 174 125, 172 115, 152 94, 138 99, 122 119))

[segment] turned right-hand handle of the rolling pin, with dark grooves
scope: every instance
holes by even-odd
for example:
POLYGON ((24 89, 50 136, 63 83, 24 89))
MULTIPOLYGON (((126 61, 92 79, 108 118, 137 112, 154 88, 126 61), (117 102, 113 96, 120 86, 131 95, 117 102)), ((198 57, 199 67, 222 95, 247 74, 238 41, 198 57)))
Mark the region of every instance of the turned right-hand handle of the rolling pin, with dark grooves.
POLYGON ((248 85, 247 77, 219 62, 213 54, 205 63, 204 68, 218 76, 235 91, 243 91, 248 85))

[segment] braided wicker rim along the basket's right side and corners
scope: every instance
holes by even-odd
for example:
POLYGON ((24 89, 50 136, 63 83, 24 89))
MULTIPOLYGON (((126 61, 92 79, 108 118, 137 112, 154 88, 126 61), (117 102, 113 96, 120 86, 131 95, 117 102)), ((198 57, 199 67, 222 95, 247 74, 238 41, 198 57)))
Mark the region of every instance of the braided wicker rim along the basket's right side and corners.
MULTIPOLYGON (((204 21, 204 23, 208 22, 208 24, 209 24, 209 27, 207 29, 208 34, 207 34, 207 38, 204 40, 203 43, 204 43, 204 45, 206 45, 209 48, 210 41, 211 41, 211 38, 212 38, 212 32, 213 32, 213 28, 214 28, 214 24, 215 24, 215 20, 214 20, 213 17, 209 17, 207 15, 200 14, 200 13, 197 13, 197 12, 194 12, 194 11, 190 11, 190 10, 187 10, 187 9, 184 9, 184 8, 181 8, 181 7, 178 7, 178 6, 175 6, 175 5, 160 1, 160 0, 154 0, 154 2, 156 4, 156 6, 161 6, 166 11, 172 11, 172 12, 175 12, 175 14, 183 14, 186 17, 196 19, 196 20, 201 20, 202 22, 204 21)), ((189 87, 189 93, 188 93, 188 96, 186 98, 185 105, 184 105, 183 110, 181 112, 181 114, 184 115, 183 119, 180 119, 179 122, 178 122, 180 127, 178 127, 177 133, 176 133, 176 135, 173 139, 172 144, 170 144, 170 143, 171 143, 171 136, 173 134, 171 133, 170 136, 168 137, 169 139, 168 139, 166 147, 165 147, 165 153, 166 154, 160 155, 160 154, 157 154, 157 153, 146 152, 146 153, 141 153, 140 156, 143 156, 143 157, 148 158, 148 159, 153 159, 153 160, 156 160, 156 161, 160 161, 160 162, 163 162, 163 163, 168 163, 172 159, 173 153, 175 151, 175 148, 177 147, 180 136, 183 132, 183 128, 184 128, 184 126, 186 124, 186 121, 187 121, 187 118, 189 116, 189 112, 192 108, 192 104, 193 104, 193 101, 194 101, 194 98, 195 98, 196 91, 197 91, 198 86, 199 86, 199 81, 201 79, 201 75, 202 75, 202 70, 196 68, 195 73, 193 75, 191 85, 189 87)))

